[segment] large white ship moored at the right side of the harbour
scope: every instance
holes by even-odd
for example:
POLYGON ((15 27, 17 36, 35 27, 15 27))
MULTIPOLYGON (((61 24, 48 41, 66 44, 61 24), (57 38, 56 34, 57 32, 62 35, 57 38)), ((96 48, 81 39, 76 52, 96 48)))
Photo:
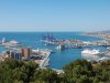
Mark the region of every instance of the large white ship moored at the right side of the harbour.
POLYGON ((84 51, 81 51, 81 54, 86 54, 86 55, 100 55, 100 54, 103 54, 102 52, 100 52, 99 50, 89 50, 89 49, 86 49, 84 51))

